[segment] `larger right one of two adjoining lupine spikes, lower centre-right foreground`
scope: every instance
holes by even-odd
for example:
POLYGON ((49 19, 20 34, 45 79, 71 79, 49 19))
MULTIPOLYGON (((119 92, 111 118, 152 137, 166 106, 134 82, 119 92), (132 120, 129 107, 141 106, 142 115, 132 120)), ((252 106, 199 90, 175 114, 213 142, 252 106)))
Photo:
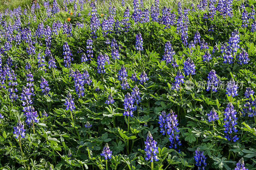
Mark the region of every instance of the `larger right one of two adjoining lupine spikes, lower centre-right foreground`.
POLYGON ((179 141, 180 135, 175 135, 175 131, 179 132, 180 130, 178 129, 178 120, 177 120, 177 115, 174 115, 174 112, 170 110, 170 113, 166 116, 165 121, 167 123, 167 134, 169 135, 169 141, 170 141, 170 146, 169 148, 177 149, 177 144, 181 145, 181 142, 179 141))

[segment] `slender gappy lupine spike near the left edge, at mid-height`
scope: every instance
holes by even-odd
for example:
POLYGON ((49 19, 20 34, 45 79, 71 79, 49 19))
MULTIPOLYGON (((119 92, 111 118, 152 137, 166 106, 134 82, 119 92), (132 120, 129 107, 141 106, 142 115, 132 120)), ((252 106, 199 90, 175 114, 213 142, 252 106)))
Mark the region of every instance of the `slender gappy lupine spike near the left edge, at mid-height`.
POLYGON ((18 99, 18 95, 15 94, 15 92, 18 92, 18 90, 17 88, 14 88, 15 85, 18 85, 18 83, 15 82, 15 80, 17 80, 16 76, 17 74, 15 74, 13 70, 10 70, 9 78, 8 78, 10 80, 10 82, 8 82, 8 85, 9 85, 8 92, 10 92, 9 98, 12 101, 16 101, 16 99, 18 99))

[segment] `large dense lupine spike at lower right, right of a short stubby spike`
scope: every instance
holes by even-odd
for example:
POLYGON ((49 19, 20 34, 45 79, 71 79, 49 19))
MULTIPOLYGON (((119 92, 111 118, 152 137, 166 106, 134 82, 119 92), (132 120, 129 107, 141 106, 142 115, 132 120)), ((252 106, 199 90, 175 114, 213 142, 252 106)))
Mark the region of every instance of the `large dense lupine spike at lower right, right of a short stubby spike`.
POLYGON ((225 118, 223 119, 225 122, 225 124, 223 125, 225 130, 224 132, 226 133, 225 138, 230 140, 233 140, 234 142, 236 142, 236 140, 238 140, 239 138, 236 136, 234 136, 232 138, 232 133, 233 132, 237 132, 236 129, 236 110, 234 110, 234 106, 232 105, 232 103, 228 103, 226 109, 225 109, 225 113, 223 114, 225 116, 225 118))

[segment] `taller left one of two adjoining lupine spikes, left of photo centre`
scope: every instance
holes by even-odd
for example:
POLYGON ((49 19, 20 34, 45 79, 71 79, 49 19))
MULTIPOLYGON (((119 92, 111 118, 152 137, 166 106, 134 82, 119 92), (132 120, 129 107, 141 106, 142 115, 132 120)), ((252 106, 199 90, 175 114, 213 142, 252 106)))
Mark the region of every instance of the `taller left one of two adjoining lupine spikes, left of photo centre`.
POLYGON ((84 96, 84 77, 78 69, 73 74, 73 80, 75 82, 75 90, 78 97, 84 96))

